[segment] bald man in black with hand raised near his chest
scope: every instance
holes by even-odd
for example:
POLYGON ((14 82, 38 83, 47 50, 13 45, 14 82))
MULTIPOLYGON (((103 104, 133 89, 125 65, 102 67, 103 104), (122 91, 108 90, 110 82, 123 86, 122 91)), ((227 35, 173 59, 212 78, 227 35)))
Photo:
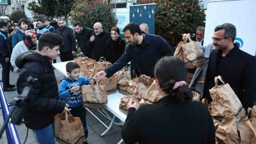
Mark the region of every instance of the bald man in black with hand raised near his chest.
POLYGON ((100 57, 104 56, 105 45, 111 34, 103 30, 100 22, 96 22, 93 25, 93 30, 94 32, 91 34, 91 38, 87 41, 86 46, 91 52, 91 58, 99 61, 100 57))

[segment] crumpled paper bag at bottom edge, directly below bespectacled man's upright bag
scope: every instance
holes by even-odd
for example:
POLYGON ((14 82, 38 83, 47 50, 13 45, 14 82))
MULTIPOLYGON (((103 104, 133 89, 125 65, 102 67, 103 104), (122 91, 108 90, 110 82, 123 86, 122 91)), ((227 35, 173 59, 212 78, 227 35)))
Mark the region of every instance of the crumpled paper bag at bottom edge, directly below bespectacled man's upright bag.
POLYGON ((238 129, 235 116, 226 115, 216 130, 216 137, 227 144, 239 144, 238 129))

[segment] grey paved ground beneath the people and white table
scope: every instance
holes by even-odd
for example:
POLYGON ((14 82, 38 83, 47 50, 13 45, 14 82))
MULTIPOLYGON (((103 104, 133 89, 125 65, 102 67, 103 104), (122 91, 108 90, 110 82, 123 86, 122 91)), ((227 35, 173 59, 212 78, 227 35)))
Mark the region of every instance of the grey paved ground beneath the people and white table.
MULTIPOLYGON (((57 58, 57 62, 60 62, 59 57, 57 58)), ((60 80, 62 80, 64 78, 64 76, 62 74, 60 74, 60 72, 58 72, 57 70, 54 70, 54 72, 55 72, 55 76, 57 79, 57 83, 58 83, 58 85, 60 85, 60 80)), ((2 68, 0 68, 0 73, 1 73, 0 77, 2 79, 2 68)), ((16 84, 17 79, 18 79, 18 73, 11 72, 10 73, 11 84, 16 84)), ((5 92, 5 98, 6 98, 7 102, 12 101, 16 95, 17 95, 17 91, 5 92)), ((9 107, 9 108, 11 109, 11 107, 9 107)), ((110 124, 110 120, 108 120, 106 117, 101 115, 96 109, 90 109, 90 110, 96 116, 98 116, 100 118, 100 120, 102 120, 105 124, 107 124, 107 125, 110 124)), ((111 114, 110 112, 109 112, 109 114, 110 114, 110 116, 113 116, 113 114, 111 114)), ((0 115, 1 115, 0 116, 0 125, 2 126, 4 124, 2 110, 0 110, 0 115)), ((88 140, 89 144, 116 144, 117 142, 119 142, 122 139, 121 138, 122 126, 117 126, 117 125, 113 124, 113 126, 109 130, 109 132, 107 132, 104 137, 101 137, 100 134, 106 130, 106 127, 103 126, 88 111, 86 113, 86 116, 87 116, 86 119, 87 119, 88 131, 89 131, 87 140, 88 140)), ((119 120, 117 118, 116 118, 116 122, 119 122, 119 120)), ((23 144, 23 142, 26 138, 26 134, 27 134, 27 128, 26 128, 25 124, 16 125, 16 130, 17 130, 19 138, 20 138, 20 143, 23 144)), ((33 131, 29 130, 26 144, 37 144, 37 143, 38 142, 36 140, 36 137, 35 137, 33 131)), ((0 139, 0 144, 7 144, 5 132, 3 134, 3 137, 0 139)))

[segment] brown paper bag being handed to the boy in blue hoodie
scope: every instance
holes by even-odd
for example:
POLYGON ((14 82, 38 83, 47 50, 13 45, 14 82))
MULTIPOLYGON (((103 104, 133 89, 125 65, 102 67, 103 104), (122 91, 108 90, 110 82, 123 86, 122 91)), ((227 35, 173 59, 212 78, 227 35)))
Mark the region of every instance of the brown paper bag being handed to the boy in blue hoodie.
POLYGON ((108 96, 105 85, 83 85, 83 107, 84 108, 105 108, 108 103, 108 96))

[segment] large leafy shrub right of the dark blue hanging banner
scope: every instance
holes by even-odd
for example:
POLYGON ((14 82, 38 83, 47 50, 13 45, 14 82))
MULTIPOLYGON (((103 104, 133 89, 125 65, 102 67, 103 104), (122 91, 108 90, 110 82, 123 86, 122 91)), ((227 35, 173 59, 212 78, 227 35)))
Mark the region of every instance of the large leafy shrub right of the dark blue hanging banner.
POLYGON ((194 34, 204 26, 205 14, 198 0, 144 0, 156 3, 155 34, 162 36, 172 48, 177 47, 183 33, 194 34))

